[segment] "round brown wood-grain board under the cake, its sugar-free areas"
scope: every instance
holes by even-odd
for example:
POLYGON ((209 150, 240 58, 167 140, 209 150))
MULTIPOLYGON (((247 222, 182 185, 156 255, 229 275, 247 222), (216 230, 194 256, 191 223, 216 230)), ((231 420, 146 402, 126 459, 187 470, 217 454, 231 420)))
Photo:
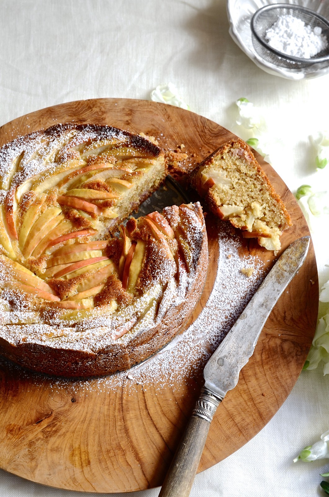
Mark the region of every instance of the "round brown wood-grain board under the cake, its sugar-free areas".
MULTIPOLYGON (((19 117, 0 128, 0 145, 19 135, 63 122, 111 125, 155 136, 174 150, 184 144, 191 166, 234 135, 192 112, 144 100, 103 98, 56 105, 19 117)), ((282 249, 309 235, 302 212, 271 166, 256 157, 281 195, 293 227, 282 249)), ((208 217, 209 269, 192 323, 205 306, 217 271, 215 221, 208 217)), ((241 256, 261 260, 272 252, 245 241, 241 256)), ((211 423, 198 471, 242 447, 277 412, 294 386, 311 346, 318 314, 314 249, 261 332, 238 386, 229 392, 211 423)), ((0 361, 0 467, 28 480, 68 490, 115 493, 160 486, 202 385, 202 367, 183 358, 179 378, 154 384, 127 379, 116 389, 107 379, 51 378, 0 361), (102 383, 103 382, 103 383, 102 383)))

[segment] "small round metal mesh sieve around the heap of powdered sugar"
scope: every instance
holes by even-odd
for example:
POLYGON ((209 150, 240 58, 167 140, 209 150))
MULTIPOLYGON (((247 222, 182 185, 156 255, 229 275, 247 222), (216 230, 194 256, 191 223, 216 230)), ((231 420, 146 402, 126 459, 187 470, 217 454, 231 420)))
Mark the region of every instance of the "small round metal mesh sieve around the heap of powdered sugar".
POLYGON ((258 9, 251 18, 252 44, 257 54, 267 62, 288 69, 300 69, 319 62, 329 61, 329 20, 313 10, 300 5, 289 3, 275 3, 258 9), (292 15, 310 25, 311 28, 320 27, 322 34, 328 40, 328 46, 316 56, 303 59, 287 55, 272 48, 265 40, 266 31, 273 26, 281 15, 292 15))

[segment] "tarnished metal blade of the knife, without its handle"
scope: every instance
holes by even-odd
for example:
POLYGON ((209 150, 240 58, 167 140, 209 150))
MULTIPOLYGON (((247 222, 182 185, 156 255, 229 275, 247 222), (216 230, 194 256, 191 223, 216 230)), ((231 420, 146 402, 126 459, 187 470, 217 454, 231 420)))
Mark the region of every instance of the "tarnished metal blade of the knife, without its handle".
POLYGON ((253 354, 268 316, 302 266, 309 245, 310 237, 303 237, 283 252, 207 362, 203 371, 204 388, 220 400, 237 385, 240 371, 253 354))

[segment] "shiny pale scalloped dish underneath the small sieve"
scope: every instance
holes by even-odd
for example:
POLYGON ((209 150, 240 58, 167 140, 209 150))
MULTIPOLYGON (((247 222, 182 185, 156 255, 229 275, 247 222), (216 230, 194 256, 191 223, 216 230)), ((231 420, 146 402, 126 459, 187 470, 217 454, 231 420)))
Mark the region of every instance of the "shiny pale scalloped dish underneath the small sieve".
POLYGON ((311 8, 329 19, 329 0, 227 0, 230 35, 256 66, 266 73, 289 80, 317 78, 329 73, 329 62, 313 64, 303 69, 285 69, 262 59, 251 40, 250 20, 258 8, 272 3, 294 3, 311 8))

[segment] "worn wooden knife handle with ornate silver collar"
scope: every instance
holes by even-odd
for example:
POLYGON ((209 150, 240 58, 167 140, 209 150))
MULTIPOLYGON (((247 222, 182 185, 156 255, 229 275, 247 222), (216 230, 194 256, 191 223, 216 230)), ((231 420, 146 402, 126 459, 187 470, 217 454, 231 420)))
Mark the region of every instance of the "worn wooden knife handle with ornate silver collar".
POLYGON ((159 497, 188 497, 190 495, 211 420, 222 400, 205 388, 201 390, 159 497))

